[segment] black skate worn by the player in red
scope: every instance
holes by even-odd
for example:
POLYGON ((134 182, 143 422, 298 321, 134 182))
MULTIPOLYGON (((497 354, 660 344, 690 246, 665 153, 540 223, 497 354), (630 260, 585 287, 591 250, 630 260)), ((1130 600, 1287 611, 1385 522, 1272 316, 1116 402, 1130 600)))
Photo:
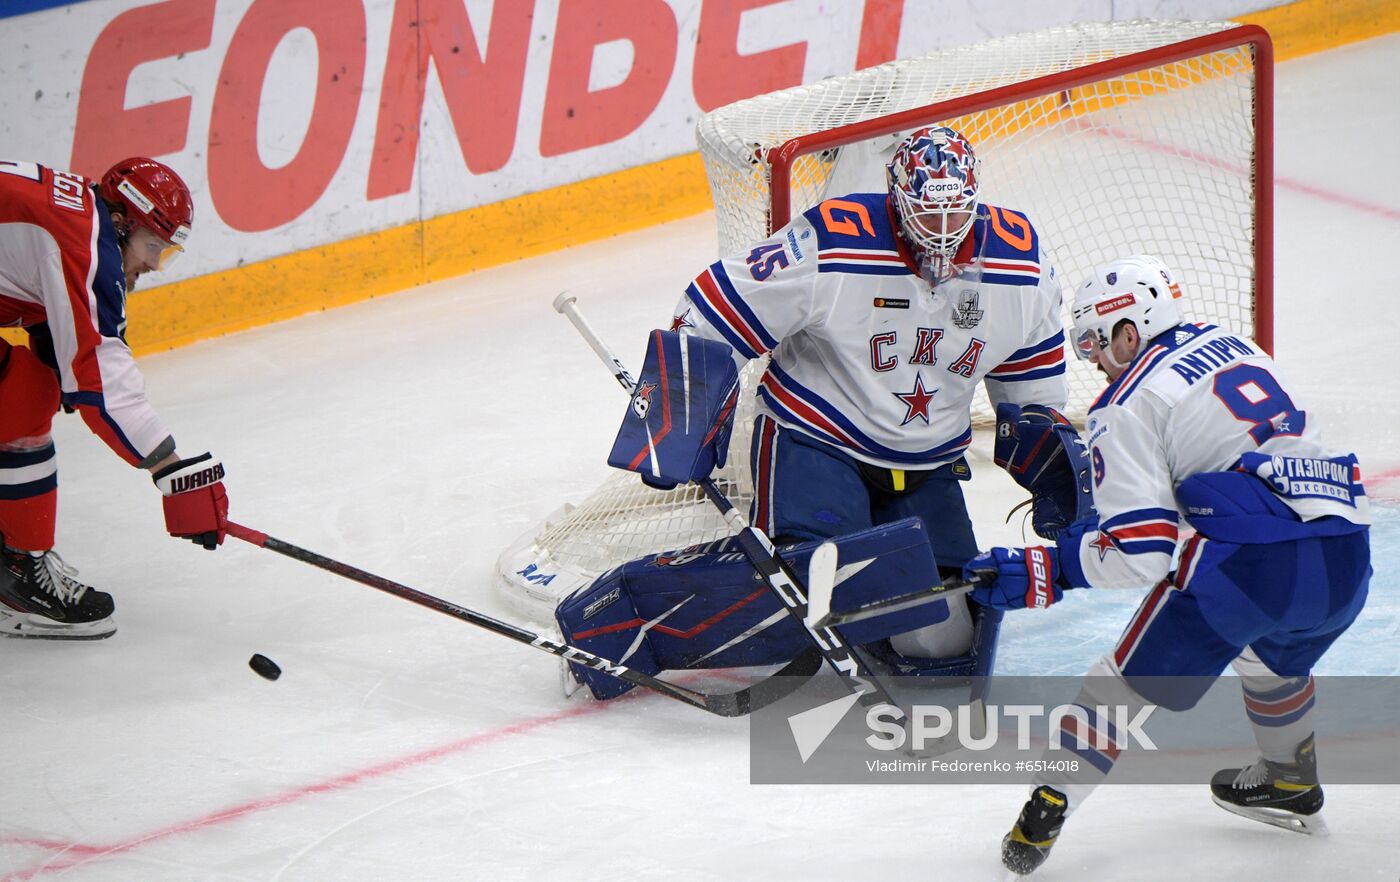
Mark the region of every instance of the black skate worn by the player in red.
POLYGON ((101 640, 116 633, 112 595, 74 580, 53 552, 0 546, 0 636, 101 640))

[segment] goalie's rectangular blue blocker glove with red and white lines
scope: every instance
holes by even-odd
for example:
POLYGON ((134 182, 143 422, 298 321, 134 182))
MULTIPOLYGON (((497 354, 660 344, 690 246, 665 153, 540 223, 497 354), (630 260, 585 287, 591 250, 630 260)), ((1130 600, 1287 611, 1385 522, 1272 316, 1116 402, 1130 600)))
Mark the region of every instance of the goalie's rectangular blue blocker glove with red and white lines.
POLYGON ((652 330, 608 465, 659 490, 706 479, 724 465, 738 400, 728 344, 652 330))

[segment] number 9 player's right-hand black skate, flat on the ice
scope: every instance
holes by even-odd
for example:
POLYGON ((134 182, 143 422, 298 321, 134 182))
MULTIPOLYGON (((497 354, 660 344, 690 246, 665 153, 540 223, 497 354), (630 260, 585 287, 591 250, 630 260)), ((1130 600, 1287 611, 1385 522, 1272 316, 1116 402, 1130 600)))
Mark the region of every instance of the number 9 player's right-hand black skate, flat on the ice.
POLYGON ((1247 769, 1221 769, 1211 778, 1211 799, 1226 812, 1295 833, 1326 833, 1317 755, 1309 735, 1294 753, 1296 762, 1264 757, 1247 769))

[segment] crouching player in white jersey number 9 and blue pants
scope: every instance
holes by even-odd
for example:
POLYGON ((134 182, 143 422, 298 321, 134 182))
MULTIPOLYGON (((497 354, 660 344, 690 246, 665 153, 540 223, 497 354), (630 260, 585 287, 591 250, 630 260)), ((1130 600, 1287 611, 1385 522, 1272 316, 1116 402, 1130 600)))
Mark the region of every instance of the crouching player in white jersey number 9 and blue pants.
POLYGON ((998 609, 1154 585, 1075 699, 1085 717, 1067 715, 1064 746, 1047 752, 1078 771, 1039 774, 1004 840, 1015 872, 1044 861, 1124 746, 1098 708, 1187 710, 1231 662, 1263 756, 1218 773, 1212 798, 1277 826, 1319 825, 1310 671, 1371 577, 1357 458, 1323 444, 1253 342, 1183 323, 1180 295, 1149 256, 1100 266, 1078 290, 1078 350, 1110 381, 1085 428, 1098 515, 1057 546, 993 549, 966 568, 998 575, 973 595, 998 609))

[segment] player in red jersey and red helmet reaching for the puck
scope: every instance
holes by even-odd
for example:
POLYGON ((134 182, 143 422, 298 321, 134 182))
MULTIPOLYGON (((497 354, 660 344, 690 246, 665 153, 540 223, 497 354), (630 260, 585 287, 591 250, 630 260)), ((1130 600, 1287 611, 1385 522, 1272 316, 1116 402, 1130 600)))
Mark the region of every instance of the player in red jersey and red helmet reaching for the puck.
POLYGON ((53 552, 60 402, 118 456, 151 472, 174 536, 216 547, 228 500, 209 454, 181 459, 146 399, 126 344, 126 294, 182 249, 189 188, 171 168, 132 158, 101 182, 38 162, 0 161, 0 634, 109 637, 112 596, 53 552))

